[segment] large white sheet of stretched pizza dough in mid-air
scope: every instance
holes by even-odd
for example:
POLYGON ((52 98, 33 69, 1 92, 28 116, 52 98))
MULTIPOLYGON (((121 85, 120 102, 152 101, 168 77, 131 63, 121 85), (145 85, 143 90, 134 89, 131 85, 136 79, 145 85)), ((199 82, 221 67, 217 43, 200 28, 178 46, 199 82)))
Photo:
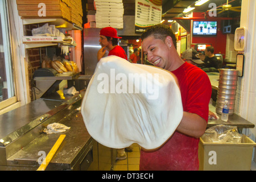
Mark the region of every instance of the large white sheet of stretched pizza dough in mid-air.
POLYGON ((97 64, 81 114, 89 134, 104 146, 125 148, 138 143, 153 149, 174 133, 183 106, 170 72, 108 56, 97 64))

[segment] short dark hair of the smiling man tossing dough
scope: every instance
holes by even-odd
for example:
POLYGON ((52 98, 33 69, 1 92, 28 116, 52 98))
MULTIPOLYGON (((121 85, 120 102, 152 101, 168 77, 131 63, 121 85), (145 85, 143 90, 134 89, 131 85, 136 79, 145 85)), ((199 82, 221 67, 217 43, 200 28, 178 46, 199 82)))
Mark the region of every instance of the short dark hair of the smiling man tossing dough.
POLYGON ((171 30, 169 26, 164 24, 156 24, 155 26, 147 28, 143 34, 141 35, 141 40, 146 39, 148 36, 154 36, 155 39, 166 40, 167 36, 171 36, 172 43, 174 43, 174 47, 177 49, 177 42, 174 32, 171 30))

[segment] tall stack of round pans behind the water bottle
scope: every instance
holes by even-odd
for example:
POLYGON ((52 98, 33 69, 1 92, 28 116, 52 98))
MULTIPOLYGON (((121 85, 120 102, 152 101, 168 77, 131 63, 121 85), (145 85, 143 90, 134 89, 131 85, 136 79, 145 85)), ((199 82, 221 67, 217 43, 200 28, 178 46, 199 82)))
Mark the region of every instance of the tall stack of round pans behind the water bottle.
POLYGON ((225 101, 229 102, 229 115, 234 114, 236 101, 238 71, 236 69, 220 69, 216 113, 221 114, 225 101))

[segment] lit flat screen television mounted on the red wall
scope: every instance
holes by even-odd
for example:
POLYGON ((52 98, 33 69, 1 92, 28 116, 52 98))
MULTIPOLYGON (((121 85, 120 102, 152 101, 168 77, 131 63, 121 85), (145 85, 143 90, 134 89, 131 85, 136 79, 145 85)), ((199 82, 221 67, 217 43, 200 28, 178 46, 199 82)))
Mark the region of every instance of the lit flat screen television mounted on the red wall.
POLYGON ((216 21, 193 21, 193 36, 216 36, 216 21))

